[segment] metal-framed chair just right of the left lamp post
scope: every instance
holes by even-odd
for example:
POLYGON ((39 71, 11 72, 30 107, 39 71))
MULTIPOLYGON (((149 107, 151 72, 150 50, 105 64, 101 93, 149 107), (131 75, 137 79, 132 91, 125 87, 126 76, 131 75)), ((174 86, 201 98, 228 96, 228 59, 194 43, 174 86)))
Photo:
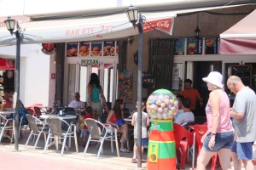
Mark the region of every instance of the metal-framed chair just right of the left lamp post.
POLYGON ((40 138, 41 133, 44 133, 44 141, 46 142, 46 131, 47 128, 45 128, 45 123, 39 120, 37 117, 32 116, 32 115, 26 115, 26 119, 29 123, 29 127, 31 128, 31 133, 29 134, 27 140, 26 140, 26 145, 28 144, 29 140, 32 138, 32 135, 38 136, 36 143, 34 144, 33 150, 36 149, 37 144, 38 144, 38 139, 40 138), (38 126, 39 125, 39 126, 38 126), (41 126, 42 125, 42 126, 41 126))

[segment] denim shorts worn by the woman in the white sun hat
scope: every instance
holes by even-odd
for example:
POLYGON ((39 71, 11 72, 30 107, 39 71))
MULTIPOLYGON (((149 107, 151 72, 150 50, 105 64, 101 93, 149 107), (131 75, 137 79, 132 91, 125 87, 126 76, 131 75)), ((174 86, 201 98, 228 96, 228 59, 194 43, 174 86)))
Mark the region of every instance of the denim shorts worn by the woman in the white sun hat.
POLYGON ((216 133, 215 136, 215 144, 212 150, 210 150, 209 148, 209 141, 211 139, 212 134, 208 134, 204 144, 203 144, 203 148, 204 150, 207 151, 212 151, 212 152, 217 152, 218 150, 222 149, 222 148, 226 148, 226 149, 230 149, 232 148, 232 144, 234 142, 234 133, 233 132, 229 132, 229 133, 216 133))

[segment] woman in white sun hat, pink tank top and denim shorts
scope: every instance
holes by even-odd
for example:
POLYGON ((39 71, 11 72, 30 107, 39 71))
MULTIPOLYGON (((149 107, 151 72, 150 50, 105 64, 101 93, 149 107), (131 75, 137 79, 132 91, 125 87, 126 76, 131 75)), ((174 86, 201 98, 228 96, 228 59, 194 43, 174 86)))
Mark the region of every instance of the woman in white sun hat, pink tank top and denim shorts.
POLYGON ((234 141, 234 129, 230 122, 230 99, 224 92, 222 75, 212 71, 203 81, 211 93, 206 106, 207 133, 201 138, 203 147, 197 159, 196 169, 206 169, 212 156, 218 152, 222 169, 232 169, 230 164, 231 146, 234 141))

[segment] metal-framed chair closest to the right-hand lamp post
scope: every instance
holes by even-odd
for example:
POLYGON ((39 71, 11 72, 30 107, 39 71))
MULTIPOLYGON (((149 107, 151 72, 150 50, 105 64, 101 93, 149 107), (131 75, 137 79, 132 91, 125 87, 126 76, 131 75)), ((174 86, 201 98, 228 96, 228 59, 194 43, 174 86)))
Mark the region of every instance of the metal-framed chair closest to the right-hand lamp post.
POLYGON ((117 140, 117 130, 114 127, 110 127, 108 125, 103 125, 101 122, 96 121, 95 119, 90 119, 87 118, 84 120, 84 123, 88 127, 90 136, 89 139, 87 140, 87 144, 84 149, 84 156, 85 153, 88 149, 88 146, 90 142, 98 142, 100 143, 100 148, 97 153, 97 159, 100 156, 100 152, 103 152, 102 146, 105 140, 110 140, 111 141, 111 151, 113 153, 113 140, 115 140, 115 145, 116 145, 116 152, 117 156, 119 156, 119 144, 117 140))

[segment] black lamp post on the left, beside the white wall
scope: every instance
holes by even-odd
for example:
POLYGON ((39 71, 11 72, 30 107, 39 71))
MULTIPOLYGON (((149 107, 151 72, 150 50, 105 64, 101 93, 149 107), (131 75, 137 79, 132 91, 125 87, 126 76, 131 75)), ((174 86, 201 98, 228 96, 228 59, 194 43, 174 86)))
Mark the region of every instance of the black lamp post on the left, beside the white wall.
POLYGON ((20 30, 19 23, 16 20, 11 19, 11 17, 8 17, 7 20, 4 20, 4 24, 7 27, 7 29, 10 31, 11 35, 15 33, 15 37, 17 39, 16 59, 15 59, 15 92, 17 93, 17 100, 16 100, 16 107, 15 107, 15 150, 19 150, 20 42, 23 37, 23 32, 20 30), (15 31, 15 26, 16 26, 16 31, 15 31))

